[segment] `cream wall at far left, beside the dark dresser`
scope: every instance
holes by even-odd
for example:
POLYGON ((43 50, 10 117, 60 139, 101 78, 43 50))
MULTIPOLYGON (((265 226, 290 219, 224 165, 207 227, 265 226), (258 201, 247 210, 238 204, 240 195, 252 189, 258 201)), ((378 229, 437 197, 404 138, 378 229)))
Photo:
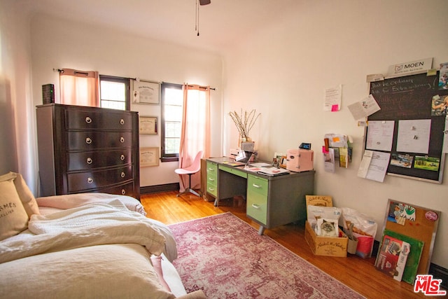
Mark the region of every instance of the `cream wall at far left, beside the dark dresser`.
POLYGON ((37 188, 34 106, 31 103, 29 11, 0 1, 0 174, 19 172, 37 188))

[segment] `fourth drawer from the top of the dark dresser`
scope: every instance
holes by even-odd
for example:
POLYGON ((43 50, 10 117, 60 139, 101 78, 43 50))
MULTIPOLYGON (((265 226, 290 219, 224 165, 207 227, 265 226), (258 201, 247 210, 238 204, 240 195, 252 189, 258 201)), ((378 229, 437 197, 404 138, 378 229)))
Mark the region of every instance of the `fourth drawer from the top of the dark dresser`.
POLYGON ((97 189, 110 186, 111 182, 120 183, 132 180, 132 165, 97 172, 78 172, 67 174, 69 193, 81 190, 97 189))

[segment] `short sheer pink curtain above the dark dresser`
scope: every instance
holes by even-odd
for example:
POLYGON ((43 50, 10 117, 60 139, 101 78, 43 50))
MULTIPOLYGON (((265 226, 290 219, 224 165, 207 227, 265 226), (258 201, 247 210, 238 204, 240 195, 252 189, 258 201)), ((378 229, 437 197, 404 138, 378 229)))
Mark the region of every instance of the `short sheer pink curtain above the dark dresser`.
POLYGON ((59 70, 60 104, 99 107, 97 71, 59 70))

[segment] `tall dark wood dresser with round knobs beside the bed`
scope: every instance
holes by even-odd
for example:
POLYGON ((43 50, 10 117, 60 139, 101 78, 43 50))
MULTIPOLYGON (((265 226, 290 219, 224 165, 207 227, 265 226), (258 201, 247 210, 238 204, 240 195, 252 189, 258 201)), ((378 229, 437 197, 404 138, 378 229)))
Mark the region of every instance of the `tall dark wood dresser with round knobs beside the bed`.
POLYGON ((40 196, 102 192, 140 199, 137 112, 44 104, 36 118, 40 196))

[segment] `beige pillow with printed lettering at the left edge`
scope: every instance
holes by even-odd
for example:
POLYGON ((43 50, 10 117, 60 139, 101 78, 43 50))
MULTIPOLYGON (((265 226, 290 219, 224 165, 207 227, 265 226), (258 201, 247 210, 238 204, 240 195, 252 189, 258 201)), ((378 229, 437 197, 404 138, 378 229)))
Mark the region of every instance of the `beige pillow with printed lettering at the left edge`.
POLYGON ((12 179, 0 181, 0 241, 28 228, 27 211, 12 179))

